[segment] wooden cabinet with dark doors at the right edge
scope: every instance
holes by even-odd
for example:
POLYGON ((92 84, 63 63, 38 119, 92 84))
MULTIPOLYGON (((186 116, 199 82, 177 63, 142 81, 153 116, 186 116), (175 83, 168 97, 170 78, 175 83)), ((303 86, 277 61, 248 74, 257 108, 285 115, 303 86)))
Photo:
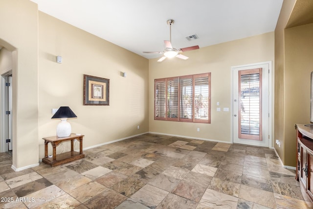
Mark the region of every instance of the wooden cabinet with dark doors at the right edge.
POLYGON ((313 126, 297 124, 296 130, 296 179, 300 182, 302 193, 313 202, 313 126))

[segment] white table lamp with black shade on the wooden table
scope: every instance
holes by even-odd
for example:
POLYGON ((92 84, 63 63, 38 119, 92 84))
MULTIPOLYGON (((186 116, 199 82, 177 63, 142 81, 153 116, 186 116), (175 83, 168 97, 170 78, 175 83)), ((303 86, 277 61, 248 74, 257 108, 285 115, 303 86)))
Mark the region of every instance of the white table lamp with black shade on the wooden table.
POLYGON ((61 122, 57 126, 58 137, 68 137, 71 134, 71 126, 67 122, 67 118, 76 118, 77 116, 69 107, 60 107, 59 110, 51 117, 51 119, 60 118, 61 122))

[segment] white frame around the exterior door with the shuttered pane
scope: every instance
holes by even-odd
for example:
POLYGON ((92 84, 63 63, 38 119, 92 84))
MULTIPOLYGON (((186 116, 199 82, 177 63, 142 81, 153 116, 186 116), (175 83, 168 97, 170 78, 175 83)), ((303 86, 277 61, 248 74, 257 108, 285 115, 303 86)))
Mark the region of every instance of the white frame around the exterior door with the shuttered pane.
POLYGON ((253 67, 256 65, 264 65, 264 64, 268 64, 268 148, 272 148, 272 61, 267 61, 267 62, 260 62, 260 63, 252 63, 252 64, 246 64, 246 65, 239 65, 239 66, 232 66, 230 68, 230 83, 231 83, 231 94, 230 94, 230 141, 232 143, 234 143, 234 137, 233 137, 233 128, 234 128, 234 124, 233 124, 233 85, 234 85, 234 81, 233 81, 233 71, 234 68, 242 68, 242 67, 253 67))

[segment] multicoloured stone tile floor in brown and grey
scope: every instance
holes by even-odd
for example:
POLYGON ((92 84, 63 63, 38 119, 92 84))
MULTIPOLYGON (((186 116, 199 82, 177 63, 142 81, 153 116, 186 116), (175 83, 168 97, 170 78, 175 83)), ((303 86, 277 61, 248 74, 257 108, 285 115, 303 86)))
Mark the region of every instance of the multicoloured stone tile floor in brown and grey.
POLYGON ((268 148, 145 134, 64 165, 14 172, 0 153, 0 207, 309 209, 295 171, 268 148))

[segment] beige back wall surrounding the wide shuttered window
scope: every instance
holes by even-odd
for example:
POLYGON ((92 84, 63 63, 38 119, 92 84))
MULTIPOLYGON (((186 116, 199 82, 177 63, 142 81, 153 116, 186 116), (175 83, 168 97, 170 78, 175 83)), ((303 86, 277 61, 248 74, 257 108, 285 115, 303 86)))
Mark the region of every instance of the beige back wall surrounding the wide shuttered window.
POLYGON ((188 60, 174 58, 159 63, 149 60, 149 131, 201 139, 231 142, 230 112, 216 112, 231 107, 232 66, 274 61, 274 32, 226 42, 185 52, 188 60), (154 79, 211 72, 211 124, 154 120, 154 79), (197 128, 200 132, 197 132, 197 128))

